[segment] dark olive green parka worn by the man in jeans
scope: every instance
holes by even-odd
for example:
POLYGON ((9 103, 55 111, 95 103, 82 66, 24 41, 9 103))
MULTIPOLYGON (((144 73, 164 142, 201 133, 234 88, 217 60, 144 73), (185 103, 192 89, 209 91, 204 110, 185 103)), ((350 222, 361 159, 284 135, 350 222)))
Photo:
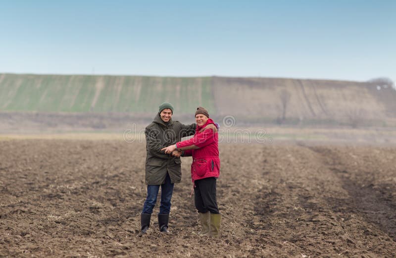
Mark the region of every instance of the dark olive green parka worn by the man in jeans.
POLYGON ((172 119, 165 123, 159 113, 155 116, 145 129, 146 184, 164 184, 167 172, 172 183, 180 183, 182 180, 180 157, 165 154, 161 149, 180 142, 182 137, 194 135, 196 126, 196 124, 184 125, 172 119))

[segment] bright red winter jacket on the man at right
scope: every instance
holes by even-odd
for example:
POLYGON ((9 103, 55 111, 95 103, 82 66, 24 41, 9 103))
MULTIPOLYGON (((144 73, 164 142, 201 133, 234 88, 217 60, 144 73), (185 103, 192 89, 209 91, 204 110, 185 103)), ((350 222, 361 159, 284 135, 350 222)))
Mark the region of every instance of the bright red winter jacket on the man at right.
POLYGON ((194 137, 176 144, 177 148, 191 145, 199 147, 197 150, 184 152, 185 156, 193 156, 193 163, 191 164, 191 179, 193 182, 207 177, 217 178, 220 175, 219 135, 213 129, 206 129, 199 132, 208 124, 214 124, 213 120, 209 118, 204 125, 197 125, 194 137))

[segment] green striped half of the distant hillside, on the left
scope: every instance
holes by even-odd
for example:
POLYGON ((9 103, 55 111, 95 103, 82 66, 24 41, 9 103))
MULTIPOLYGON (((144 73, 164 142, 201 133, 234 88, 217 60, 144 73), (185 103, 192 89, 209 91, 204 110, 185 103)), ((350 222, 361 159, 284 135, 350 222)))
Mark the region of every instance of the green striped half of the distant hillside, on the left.
POLYGON ((212 110, 211 85, 207 77, 0 74, 0 109, 147 113, 169 101, 180 110, 212 110))

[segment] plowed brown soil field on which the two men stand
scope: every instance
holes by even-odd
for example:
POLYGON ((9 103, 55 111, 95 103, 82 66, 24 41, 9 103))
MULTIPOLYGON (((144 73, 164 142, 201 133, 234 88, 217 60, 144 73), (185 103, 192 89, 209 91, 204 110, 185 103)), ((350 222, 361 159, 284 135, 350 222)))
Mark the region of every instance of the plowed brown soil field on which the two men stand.
MULTIPOLYGON (((191 157, 170 228, 140 237, 145 144, 0 141, 0 257, 396 257, 396 148, 220 145, 221 238, 198 237, 191 157)), ((154 213, 158 212, 158 206, 154 213)))

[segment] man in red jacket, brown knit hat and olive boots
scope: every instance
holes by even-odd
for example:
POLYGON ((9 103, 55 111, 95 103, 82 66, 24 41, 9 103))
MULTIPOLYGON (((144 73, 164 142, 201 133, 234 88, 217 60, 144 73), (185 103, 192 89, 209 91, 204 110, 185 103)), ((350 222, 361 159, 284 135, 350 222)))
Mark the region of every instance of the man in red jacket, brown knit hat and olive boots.
POLYGON ((221 215, 216 201, 216 180, 220 175, 217 126, 203 107, 197 108, 195 119, 197 128, 193 138, 162 150, 167 154, 174 150, 184 151, 183 156, 193 156, 191 179, 202 226, 199 234, 218 237, 221 215))

